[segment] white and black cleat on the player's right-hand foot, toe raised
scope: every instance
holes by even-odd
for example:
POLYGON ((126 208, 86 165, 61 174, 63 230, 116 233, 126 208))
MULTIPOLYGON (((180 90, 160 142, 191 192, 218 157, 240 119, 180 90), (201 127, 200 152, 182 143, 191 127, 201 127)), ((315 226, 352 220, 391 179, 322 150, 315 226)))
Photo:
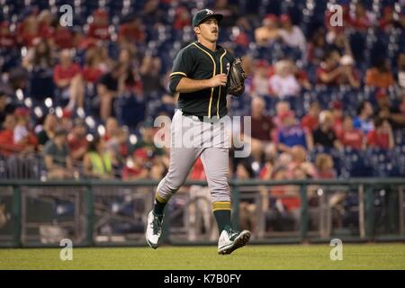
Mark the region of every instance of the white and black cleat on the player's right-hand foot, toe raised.
POLYGON ((230 254, 240 247, 244 247, 250 239, 250 231, 243 230, 241 232, 225 227, 220 233, 218 240, 218 254, 230 254))

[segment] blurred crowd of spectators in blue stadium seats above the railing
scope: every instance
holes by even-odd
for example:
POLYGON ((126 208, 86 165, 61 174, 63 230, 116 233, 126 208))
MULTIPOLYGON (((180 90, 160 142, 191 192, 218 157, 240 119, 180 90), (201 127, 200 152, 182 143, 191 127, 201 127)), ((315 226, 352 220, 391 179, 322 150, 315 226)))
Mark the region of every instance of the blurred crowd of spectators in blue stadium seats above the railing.
MULTIPOLYGON (((252 116, 252 153, 232 159, 229 177, 350 176, 333 153, 403 153, 403 4, 340 1, 335 27, 327 1, 101 2, 72 2, 72 27, 59 23, 58 1, 4 2, 3 177, 21 176, 25 159, 38 165, 32 177, 161 179, 168 148, 154 145, 153 120, 175 111, 168 74, 194 40, 191 17, 202 6, 224 14, 220 44, 243 56, 249 75, 229 113, 252 116)), ((190 178, 204 179, 200 160, 190 178)))

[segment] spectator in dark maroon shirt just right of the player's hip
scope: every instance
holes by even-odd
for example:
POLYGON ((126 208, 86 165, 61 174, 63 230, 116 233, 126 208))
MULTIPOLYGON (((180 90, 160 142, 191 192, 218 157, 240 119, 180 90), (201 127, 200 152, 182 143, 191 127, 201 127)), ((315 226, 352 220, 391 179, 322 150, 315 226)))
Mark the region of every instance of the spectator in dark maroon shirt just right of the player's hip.
POLYGON ((265 151, 275 151, 271 143, 275 124, 265 113, 265 101, 260 97, 252 99, 252 156, 260 161, 265 151))

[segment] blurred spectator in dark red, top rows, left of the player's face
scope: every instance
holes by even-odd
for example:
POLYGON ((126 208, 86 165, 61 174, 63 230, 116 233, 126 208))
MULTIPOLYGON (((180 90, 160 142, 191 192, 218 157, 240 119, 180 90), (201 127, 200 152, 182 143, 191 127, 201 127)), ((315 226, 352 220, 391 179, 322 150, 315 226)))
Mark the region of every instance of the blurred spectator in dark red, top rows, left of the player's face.
POLYGON ((121 46, 137 44, 145 41, 145 32, 138 17, 131 17, 128 23, 121 24, 118 31, 118 42, 121 46))

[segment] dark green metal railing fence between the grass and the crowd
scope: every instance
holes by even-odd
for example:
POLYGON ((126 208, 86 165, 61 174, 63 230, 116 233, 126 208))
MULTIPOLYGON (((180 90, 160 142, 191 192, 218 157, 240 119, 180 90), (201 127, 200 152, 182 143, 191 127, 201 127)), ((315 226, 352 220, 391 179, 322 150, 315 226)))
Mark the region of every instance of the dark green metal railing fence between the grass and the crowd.
MULTIPOLYGON (((145 245, 144 224, 157 184, 148 180, 3 180, 0 182, 0 247, 58 246, 61 238, 72 238, 76 246, 145 245)), ((190 189, 206 185, 202 181, 187 182, 175 194, 166 207, 163 241, 202 244, 216 240, 216 224, 210 210, 210 216, 205 217, 206 207, 211 209, 208 189, 202 193, 190 189), (196 224, 197 218, 203 223, 196 224)), ((255 229, 252 242, 300 243, 330 238, 405 240, 405 178, 232 180, 229 185, 235 228, 240 228, 242 203, 254 207, 250 215, 255 229), (296 193, 295 198, 301 202, 294 214, 298 222, 292 225, 294 229, 287 231, 285 223, 291 223, 292 218, 285 221, 285 216, 293 213, 273 211, 277 204, 271 204, 283 199, 284 196, 273 194, 280 187, 296 193), (340 206, 349 207, 343 216, 331 204, 337 195, 343 199, 340 206), (336 224, 334 213, 342 216, 343 222, 348 219, 347 223, 336 224)))

